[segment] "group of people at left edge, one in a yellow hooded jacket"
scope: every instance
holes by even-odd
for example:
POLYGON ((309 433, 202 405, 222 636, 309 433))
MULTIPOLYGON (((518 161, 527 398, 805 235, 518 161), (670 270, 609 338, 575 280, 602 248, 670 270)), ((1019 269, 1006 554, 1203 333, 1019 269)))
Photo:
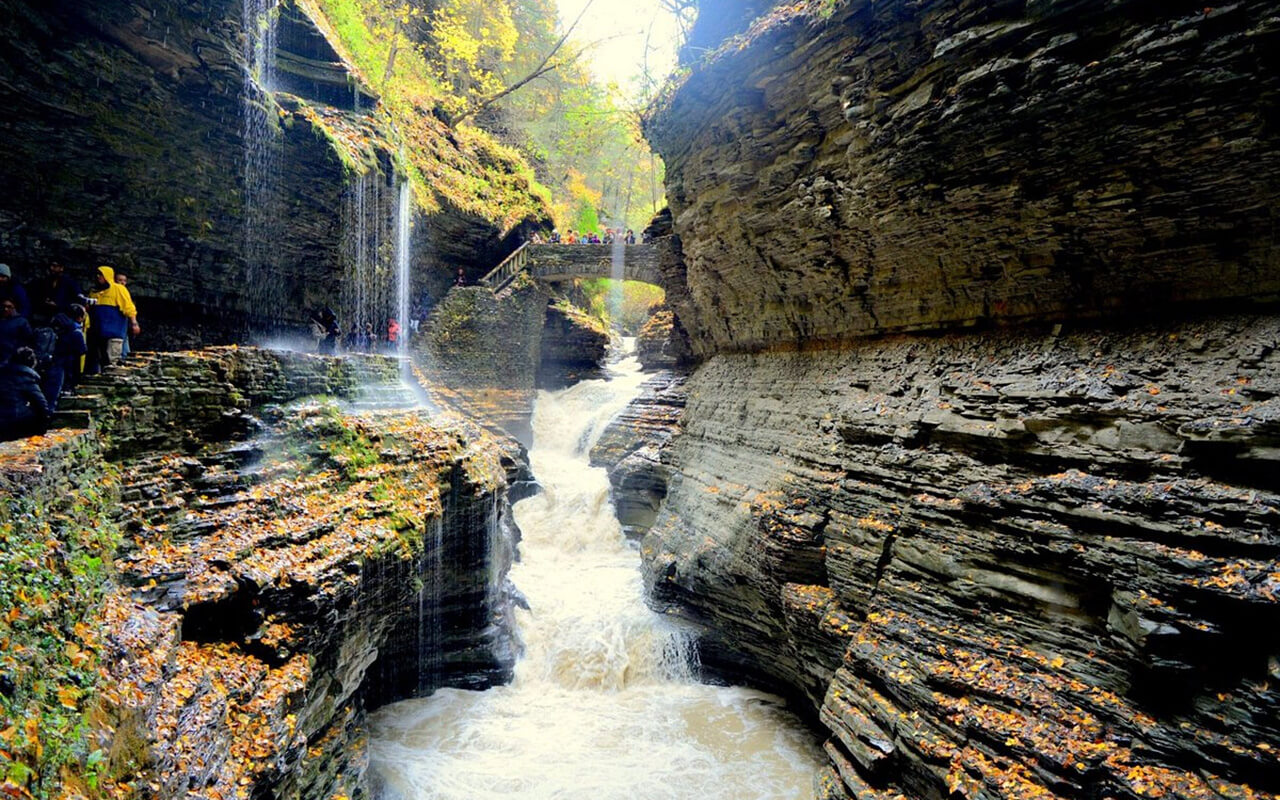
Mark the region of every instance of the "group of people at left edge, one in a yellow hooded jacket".
POLYGON ((129 355, 142 329, 127 284, 99 266, 84 293, 58 261, 26 283, 0 264, 0 440, 45 433, 82 375, 129 355))

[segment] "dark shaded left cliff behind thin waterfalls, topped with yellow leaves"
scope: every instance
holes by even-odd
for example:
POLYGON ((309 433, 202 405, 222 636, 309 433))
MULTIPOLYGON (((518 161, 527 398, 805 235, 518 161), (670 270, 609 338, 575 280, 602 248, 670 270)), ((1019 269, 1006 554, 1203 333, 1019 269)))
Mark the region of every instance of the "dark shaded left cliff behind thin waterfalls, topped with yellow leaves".
MULTIPOLYGON (((246 38, 262 32, 243 6, 0 0, 0 257, 23 282, 50 261, 82 283, 99 264, 128 271, 142 349, 243 342, 323 305, 347 323, 352 296, 379 291, 385 317, 394 270, 378 242, 394 239, 406 151, 453 182, 506 180, 508 205, 539 202, 443 123, 424 123, 421 154, 397 141, 314 3, 273 12, 268 108, 247 86, 246 38)), ((433 296, 458 266, 489 269, 521 224, 451 204, 442 183, 417 187, 435 210, 415 214, 415 288, 433 296)))

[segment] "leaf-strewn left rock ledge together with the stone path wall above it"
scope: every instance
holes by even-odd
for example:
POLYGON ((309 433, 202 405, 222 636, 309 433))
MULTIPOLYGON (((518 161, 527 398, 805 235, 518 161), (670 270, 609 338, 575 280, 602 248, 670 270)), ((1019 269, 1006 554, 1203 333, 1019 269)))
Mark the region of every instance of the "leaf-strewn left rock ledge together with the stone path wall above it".
POLYGON ((113 791, 367 796, 366 710, 509 680, 518 445, 456 415, 296 399, 398 376, 376 357, 154 355, 96 379, 91 416, 113 424, 3 448, 19 502, 118 493, 114 588, 68 635, 101 663, 113 791), (210 402, 179 396, 196 378, 210 402), (124 404, 147 411, 110 416, 124 404))

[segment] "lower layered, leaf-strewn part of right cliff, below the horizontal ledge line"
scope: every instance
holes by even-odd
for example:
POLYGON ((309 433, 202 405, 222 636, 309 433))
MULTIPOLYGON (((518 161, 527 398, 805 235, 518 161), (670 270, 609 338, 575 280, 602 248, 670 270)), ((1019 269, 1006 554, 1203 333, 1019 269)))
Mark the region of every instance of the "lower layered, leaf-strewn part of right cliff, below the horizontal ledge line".
MULTIPOLYGON (((823 797, 1270 797, 1274 316, 719 355, 643 540, 823 797)), ((616 467, 614 467, 616 468, 616 467)))

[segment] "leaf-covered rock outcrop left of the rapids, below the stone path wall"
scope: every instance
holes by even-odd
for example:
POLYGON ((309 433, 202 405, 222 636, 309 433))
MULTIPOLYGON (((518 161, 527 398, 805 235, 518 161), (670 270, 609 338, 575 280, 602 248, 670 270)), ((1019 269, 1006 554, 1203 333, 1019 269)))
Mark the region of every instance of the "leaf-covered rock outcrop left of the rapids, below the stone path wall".
POLYGON ((364 713, 509 680, 497 451, 412 415, 291 407, 125 470, 116 701, 160 796, 364 791, 364 713))

